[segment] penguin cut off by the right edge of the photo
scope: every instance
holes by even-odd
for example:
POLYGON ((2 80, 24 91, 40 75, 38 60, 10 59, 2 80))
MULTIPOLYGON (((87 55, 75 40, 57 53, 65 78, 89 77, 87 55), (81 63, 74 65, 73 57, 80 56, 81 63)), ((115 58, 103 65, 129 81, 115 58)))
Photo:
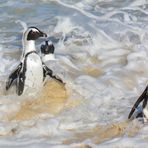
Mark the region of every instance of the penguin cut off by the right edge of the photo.
POLYGON ((145 88, 141 96, 135 102, 134 106, 132 107, 129 113, 128 119, 131 119, 131 117, 133 116, 133 113, 135 112, 136 109, 138 110, 138 106, 142 102, 142 109, 140 110, 140 112, 137 113, 136 118, 143 118, 144 122, 146 122, 148 120, 147 101, 148 101, 148 86, 145 88))

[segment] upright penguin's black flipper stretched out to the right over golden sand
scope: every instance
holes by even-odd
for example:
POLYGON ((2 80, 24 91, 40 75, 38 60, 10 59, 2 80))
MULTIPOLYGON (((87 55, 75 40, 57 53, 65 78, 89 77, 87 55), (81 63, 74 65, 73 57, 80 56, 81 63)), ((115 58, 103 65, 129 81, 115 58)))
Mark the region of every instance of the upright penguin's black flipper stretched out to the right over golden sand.
POLYGON ((57 76, 53 75, 53 71, 49 69, 44 63, 43 63, 43 81, 45 80, 46 76, 50 76, 51 78, 59 81, 60 83, 64 84, 61 78, 58 78, 57 76))

